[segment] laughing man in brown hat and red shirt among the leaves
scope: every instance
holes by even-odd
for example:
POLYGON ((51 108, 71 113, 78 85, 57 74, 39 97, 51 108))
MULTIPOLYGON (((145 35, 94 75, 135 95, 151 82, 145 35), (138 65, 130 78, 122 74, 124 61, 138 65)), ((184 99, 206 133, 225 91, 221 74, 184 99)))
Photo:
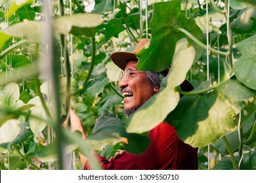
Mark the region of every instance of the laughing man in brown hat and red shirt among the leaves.
MULTIPOLYGON (((124 96, 124 112, 127 116, 160 90, 160 73, 137 70, 136 53, 149 41, 140 40, 133 52, 114 52, 111 55, 112 61, 124 71, 119 88, 124 96)), ((188 82, 184 82, 181 87, 183 90, 192 89, 188 82)), ((77 118, 71 112, 72 130, 81 131, 85 138, 79 119, 74 123, 72 116, 77 118)), ((197 148, 184 144, 171 125, 161 122, 150 131, 149 137, 150 146, 140 155, 123 151, 117 152, 110 160, 96 155, 102 169, 198 169, 197 148)), ((83 155, 80 157, 85 169, 89 169, 87 159, 83 155)))

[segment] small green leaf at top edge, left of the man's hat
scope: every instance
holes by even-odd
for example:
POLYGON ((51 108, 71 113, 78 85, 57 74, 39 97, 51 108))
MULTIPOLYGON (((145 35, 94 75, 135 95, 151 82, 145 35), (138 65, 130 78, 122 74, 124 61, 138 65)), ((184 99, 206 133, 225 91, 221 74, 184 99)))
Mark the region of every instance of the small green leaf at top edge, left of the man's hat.
POLYGON ((95 8, 93 9, 93 13, 103 14, 109 10, 112 10, 114 7, 113 0, 95 0, 95 8))

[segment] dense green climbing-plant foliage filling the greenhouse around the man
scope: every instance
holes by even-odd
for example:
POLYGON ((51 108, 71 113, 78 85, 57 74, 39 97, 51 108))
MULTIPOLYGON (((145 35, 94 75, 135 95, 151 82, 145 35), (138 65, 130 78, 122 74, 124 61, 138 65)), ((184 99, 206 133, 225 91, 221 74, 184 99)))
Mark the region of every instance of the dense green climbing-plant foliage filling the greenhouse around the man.
POLYGON ((0 169, 83 169, 78 152, 98 169, 91 149, 140 154, 162 121, 200 149, 200 169, 256 169, 255 12, 254 0, 1 0, 0 169), (110 54, 142 38, 138 69, 171 69, 126 118, 110 54), (83 141, 62 127, 70 107, 83 141))

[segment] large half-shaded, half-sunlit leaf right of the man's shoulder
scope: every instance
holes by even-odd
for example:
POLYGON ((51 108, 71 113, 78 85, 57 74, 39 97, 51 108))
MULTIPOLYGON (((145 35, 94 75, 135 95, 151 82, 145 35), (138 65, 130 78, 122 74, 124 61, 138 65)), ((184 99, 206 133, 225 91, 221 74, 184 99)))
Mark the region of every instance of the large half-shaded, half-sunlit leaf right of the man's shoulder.
POLYGON ((203 147, 234 129, 242 101, 254 95, 240 82, 228 80, 216 91, 182 97, 167 122, 175 127, 182 141, 203 147))

